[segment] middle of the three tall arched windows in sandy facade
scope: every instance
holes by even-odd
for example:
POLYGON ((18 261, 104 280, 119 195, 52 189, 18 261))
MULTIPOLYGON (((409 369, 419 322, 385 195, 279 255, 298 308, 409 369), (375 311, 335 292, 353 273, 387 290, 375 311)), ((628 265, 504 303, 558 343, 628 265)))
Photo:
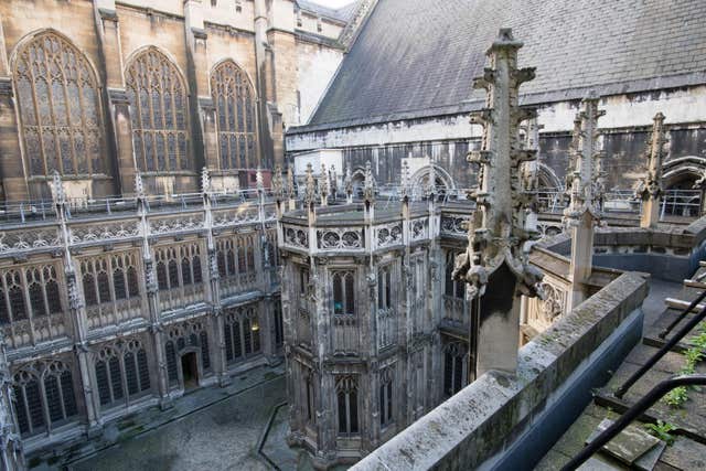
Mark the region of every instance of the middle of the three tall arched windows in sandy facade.
POLYGON ((138 169, 193 170, 186 143, 186 89, 174 64, 150 47, 132 60, 126 81, 138 169))

